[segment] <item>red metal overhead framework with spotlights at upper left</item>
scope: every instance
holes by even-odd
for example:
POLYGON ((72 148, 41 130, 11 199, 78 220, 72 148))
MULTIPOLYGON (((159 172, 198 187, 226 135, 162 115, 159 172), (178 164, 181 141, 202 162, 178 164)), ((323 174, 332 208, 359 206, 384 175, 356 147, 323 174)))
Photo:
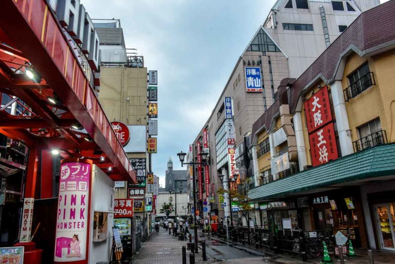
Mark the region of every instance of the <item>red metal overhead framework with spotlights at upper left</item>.
POLYGON ((0 109, 2 134, 33 149, 57 148, 64 158, 92 159, 112 179, 135 181, 89 79, 45 0, 1 1, 0 101, 3 96, 10 96, 21 111, 7 113, 12 103, 0 109), (39 80, 28 78, 27 70, 37 72, 39 80), (72 129, 75 125, 87 133, 72 129))

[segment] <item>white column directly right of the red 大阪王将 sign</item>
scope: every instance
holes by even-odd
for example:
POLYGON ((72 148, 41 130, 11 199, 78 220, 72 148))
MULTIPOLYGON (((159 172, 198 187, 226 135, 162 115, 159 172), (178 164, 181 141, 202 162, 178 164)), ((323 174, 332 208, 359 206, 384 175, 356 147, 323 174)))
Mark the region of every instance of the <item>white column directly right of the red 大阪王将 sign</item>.
POLYGON ((353 141, 347 131, 350 130, 347 117, 346 102, 344 100, 342 82, 335 81, 330 85, 333 108, 335 109, 337 132, 339 134, 340 149, 342 156, 354 153, 353 141))

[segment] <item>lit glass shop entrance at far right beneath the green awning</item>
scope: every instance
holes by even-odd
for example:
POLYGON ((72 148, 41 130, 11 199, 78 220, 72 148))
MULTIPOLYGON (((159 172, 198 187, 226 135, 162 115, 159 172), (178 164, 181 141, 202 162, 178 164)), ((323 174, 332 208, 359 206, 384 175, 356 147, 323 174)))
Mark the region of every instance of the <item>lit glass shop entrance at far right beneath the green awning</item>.
POLYGON ((377 204, 374 209, 381 248, 395 251, 395 203, 377 204))

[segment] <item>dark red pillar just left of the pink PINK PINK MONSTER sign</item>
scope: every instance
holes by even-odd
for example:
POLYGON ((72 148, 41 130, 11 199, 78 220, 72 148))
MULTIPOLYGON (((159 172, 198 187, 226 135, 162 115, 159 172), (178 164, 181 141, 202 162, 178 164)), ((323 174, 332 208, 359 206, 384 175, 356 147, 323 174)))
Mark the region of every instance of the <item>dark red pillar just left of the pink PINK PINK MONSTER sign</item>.
POLYGON ((52 185, 52 155, 49 151, 41 151, 41 199, 53 197, 52 185))

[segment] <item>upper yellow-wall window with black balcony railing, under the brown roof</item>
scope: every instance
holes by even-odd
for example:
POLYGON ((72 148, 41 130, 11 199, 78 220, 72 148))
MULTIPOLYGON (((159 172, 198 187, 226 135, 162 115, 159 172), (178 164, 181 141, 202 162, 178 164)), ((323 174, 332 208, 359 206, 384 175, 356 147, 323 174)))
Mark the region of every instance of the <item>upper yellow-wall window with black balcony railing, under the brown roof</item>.
POLYGON ((356 69, 348 78, 350 86, 345 89, 346 101, 375 84, 373 73, 369 71, 367 63, 356 69))

